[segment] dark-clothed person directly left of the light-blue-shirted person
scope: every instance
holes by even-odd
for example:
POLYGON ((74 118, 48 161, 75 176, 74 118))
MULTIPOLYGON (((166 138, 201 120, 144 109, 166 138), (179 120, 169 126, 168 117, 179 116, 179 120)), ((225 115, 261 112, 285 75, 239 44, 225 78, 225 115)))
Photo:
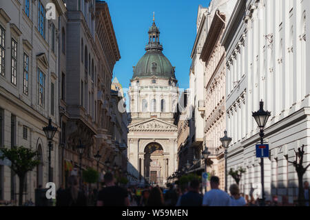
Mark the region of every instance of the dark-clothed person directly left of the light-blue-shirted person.
POLYGON ((193 179, 189 183, 189 191, 180 197, 180 206, 202 206, 203 195, 199 193, 200 182, 193 179))

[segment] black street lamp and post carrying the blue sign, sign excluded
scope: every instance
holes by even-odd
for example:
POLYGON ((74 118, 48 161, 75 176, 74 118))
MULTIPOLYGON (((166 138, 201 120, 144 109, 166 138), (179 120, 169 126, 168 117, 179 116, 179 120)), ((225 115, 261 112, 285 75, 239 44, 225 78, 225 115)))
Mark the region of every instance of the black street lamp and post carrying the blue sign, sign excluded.
MULTIPOLYGON (((260 128, 260 144, 264 144, 264 128, 271 115, 271 112, 264 110, 264 102, 260 101, 260 110, 252 112, 258 127, 260 128)), ((260 180, 262 182, 262 201, 261 206, 265 206, 265 188, 264 188, 264 158, 260 158, 260 180)))

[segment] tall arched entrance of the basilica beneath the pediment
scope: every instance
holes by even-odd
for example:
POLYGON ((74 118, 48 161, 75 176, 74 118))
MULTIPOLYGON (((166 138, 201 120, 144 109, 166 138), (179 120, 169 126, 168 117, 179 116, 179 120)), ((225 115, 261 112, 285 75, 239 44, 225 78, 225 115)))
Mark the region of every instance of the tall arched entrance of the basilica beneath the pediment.
POLYGON ((162 185, 165 177, 163 147, 159 143, 149 143, 144 152, 145 180, 151 184, 162 185))

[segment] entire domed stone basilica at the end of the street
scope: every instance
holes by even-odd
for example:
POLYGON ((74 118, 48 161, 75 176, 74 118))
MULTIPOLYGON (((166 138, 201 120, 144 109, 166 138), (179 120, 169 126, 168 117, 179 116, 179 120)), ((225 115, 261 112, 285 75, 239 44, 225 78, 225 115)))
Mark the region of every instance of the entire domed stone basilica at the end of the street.
POLYGON ((144 56, 130 83, 128 172, 140 183, 165 185, 177 169, 174 112, 178 103, 175 68, 163 54, 155 21, 144 56))

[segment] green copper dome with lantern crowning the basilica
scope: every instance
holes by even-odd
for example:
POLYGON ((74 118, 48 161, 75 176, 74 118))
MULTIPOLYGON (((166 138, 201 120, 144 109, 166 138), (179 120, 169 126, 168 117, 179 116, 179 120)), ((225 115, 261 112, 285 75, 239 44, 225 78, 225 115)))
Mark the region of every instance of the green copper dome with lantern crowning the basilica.
POLYGON ((163 77, 176 79, 174 67, 163 54, 163 46, 159 42, 159 30, 153 22, 149 28, 149 43, 145 47, 146 53, 134 68, 133 79, 136 77, 163 77))

